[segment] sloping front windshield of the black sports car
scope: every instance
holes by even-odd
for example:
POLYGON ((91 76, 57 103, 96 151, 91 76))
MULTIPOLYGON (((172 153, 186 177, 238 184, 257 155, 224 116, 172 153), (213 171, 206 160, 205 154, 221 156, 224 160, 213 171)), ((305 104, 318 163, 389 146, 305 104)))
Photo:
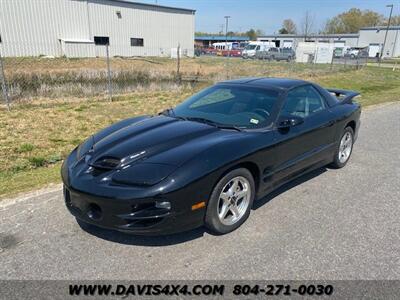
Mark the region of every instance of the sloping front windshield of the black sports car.
POLYGON ((238 128, 268 124, 279 93, 254 87, 215 85, 178 105, 173 116, 238 128))

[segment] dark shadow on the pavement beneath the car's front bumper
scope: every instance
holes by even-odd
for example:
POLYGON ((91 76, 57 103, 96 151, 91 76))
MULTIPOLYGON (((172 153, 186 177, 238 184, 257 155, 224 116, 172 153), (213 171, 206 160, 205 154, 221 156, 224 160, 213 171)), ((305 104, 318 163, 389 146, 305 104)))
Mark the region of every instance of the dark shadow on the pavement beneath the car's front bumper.
POLYGON ((206 232, 206 229, 204 227, 200 227, 194 230, 177 234, 161 235, 161 236, 143 236, 143 235, 134 235, 115 230, 104 229, 81 221, 77 222, 78 225, 82 228, 82 230, 100 239, 119 244, 132 245, 132 246, 160 247, 160 246, 181 244, 202 237, 206 232))

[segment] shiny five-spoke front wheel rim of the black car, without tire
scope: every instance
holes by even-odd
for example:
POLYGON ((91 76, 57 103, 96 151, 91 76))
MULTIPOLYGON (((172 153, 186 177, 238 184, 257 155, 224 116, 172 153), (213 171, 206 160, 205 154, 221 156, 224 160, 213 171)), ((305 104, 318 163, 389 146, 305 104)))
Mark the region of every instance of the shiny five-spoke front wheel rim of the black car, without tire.
POLYGON ((217 213, 224 225, 233 225, 246 213, 251 199, 250 182, 242 177, 232 178, 219 195, 217 213))

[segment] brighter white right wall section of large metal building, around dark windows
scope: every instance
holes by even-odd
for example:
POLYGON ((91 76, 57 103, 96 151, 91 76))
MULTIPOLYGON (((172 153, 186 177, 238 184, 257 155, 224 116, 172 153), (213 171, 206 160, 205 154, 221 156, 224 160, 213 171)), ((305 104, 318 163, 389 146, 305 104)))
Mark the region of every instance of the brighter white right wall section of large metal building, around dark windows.
MULTIPOLYGON (((92 35, 110 37, 110 55, 170 56, 171 48, 180 43, 183 52, 187 50, 193 56, 194 15, 191 12, 107 0, 92 0, 89 12, 92 35), (143 38, 144 46, 132 47, 131 38, 143 38)), ((101 53, 104 46, 96 48, 101 53)))

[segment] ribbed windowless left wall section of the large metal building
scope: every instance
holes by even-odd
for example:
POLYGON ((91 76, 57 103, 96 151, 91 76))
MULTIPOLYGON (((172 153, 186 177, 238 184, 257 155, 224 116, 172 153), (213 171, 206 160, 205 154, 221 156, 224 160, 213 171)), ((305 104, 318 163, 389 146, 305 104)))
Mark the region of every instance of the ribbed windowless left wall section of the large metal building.
POLYGON ((89 38, 86 7, 77 0, 0 0, 2 55, 60 56, 60 38, 89 38))

